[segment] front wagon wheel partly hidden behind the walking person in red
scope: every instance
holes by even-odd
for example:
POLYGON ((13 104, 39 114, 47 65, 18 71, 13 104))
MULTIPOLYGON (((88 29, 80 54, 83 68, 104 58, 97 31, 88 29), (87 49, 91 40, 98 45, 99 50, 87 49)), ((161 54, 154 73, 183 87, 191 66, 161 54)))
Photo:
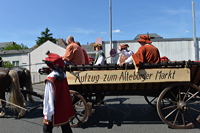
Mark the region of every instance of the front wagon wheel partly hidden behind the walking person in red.
POLYGON ((88 106, 85 99, 76 91, 70 90, 75 117, 70 120, 71 127, 77 127, 84 123, 87 118, 88 106))

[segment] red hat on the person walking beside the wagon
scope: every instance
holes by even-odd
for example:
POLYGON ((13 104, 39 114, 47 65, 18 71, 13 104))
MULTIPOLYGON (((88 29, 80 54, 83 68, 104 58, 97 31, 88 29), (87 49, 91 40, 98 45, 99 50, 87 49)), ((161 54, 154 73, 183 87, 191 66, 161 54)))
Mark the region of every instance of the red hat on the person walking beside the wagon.
POLYGON ((61 67, 62 69, 65 67, 65 63, 62 58, 58 54, 49 53, 48 57, 45 58, 45 61, 49 61, 51 63, 46 63, 48 67, 53 69, 53 64, 61 67))

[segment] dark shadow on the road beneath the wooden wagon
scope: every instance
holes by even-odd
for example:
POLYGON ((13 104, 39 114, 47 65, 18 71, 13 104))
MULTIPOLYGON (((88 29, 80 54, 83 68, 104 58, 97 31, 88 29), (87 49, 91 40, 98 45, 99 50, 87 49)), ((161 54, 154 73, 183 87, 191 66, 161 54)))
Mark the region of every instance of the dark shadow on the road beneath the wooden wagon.
POLYGON ((148 104, 126 104, 127 98, 109 99, 107 102, 118 101, 120 104, 106 104, 96 107, 92 116, 81 125, 81 128, 88 127, 108 127, 114 124, 163 124, 160 120, 156 108, 148 104))

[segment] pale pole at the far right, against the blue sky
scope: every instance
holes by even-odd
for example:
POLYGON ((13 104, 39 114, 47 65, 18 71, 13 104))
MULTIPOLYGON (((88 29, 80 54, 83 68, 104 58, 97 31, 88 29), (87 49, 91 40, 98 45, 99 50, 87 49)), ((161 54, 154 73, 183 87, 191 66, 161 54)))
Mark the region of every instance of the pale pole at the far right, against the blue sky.
POLYGON ((194 41, 194 47, 195 47, 195 60, 199 60, 199 44, 196 38, 196 17, 195 17, 195 6, 194 6, 194 1, 192 1, 192 19, 193 19, 193 31, 194 31, 194 36, 193 36, 193 41, 194 41))

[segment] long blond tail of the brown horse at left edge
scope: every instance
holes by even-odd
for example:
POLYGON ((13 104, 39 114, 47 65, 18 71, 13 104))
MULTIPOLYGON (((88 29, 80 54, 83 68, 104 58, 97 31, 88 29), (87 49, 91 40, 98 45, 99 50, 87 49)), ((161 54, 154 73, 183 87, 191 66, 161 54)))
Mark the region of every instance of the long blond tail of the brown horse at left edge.
MULTIPOLYGON (((25 100, 20 91, 18 74, 15 70, 10 70, 8 74, 11 77, 10 102, 23 107, 25 100)), ((20 108, 18 107, 13 105, 10 105, 10 107, 12 110, 16 109, 18 112, 20 111, 20 108)))

